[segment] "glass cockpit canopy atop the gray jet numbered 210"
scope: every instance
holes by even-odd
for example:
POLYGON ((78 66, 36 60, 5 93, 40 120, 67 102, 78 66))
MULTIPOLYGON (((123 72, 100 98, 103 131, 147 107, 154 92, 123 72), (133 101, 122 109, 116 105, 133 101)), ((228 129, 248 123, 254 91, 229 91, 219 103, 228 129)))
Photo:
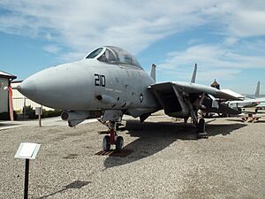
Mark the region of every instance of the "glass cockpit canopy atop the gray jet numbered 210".
POLYGON ((86 58, 97 60, 113 65, 134 65, 140 67, 138 60, 126 50, 114 46, 104 46, 93 50, 86 58))

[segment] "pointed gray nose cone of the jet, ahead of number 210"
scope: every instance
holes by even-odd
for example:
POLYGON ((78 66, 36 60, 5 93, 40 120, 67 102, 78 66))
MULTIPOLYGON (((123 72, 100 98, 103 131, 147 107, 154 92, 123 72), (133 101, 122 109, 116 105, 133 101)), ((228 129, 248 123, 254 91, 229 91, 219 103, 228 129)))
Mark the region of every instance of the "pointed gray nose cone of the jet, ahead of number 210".
POLYGON ((85 110, 94 91, 92 74, 83 65, 57 65, 34 73, 18 86, 35 103, 59 110, 85 110))

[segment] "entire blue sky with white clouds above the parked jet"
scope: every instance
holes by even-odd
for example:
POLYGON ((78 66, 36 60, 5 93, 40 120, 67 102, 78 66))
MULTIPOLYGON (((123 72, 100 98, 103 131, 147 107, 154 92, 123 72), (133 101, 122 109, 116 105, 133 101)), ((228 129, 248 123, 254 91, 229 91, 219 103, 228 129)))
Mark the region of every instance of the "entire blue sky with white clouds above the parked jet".
POLYGON ((156 80, 213 80, 265 94, 264 0, 0 0, 0 71, 24 80, 103 45, 130 51, 156 80))

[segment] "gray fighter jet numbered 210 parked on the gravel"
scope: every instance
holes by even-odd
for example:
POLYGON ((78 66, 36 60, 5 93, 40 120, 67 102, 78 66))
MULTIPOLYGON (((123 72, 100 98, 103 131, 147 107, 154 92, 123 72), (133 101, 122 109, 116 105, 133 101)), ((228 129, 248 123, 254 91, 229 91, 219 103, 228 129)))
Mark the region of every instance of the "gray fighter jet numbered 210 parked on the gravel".
POLYGON ((242 97, 231 90, 195 84, 194 79, 193 73, 192 82, 155 83, 155 65, 149 76, 126 50, 103 46, 77 62, 34 73, 18 89, 36 103, 63 110, 61 118, 69 126, 100 118, 110 132, 103 138, 103 150, 110 150, 111 145, 119 150, 124 139, 117 136, 116 127, 125 114, 143 122, 163 109, 171 117, 191 117, 199 133, 205 134, 198 111, 229 113, 233 110, 222 103, 242 97))

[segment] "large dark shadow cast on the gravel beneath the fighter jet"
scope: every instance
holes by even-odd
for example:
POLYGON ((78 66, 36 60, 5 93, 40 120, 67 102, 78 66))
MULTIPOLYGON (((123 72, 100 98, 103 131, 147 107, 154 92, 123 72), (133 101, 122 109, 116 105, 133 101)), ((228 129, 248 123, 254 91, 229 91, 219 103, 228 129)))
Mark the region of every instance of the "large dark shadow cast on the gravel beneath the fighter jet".
MULTIPOLYGON (((209 137, 217 134, 225 136, 244 126, 246 126, 246 124, 207 124, 206 131, 209 137)), ((125 131, 127 131, 126 134, 138 138, 134 142, 125 145, 124 149, 133 150, 133 153, 128 157, 108 157, 104 162, 106 168, 129 164, 142 158, 152 156, 167 148, 178 139, 183 141, 198 140, 197 128, 191 124, 184 123, 140 123, 136 120, 128 120, 126 122, 125 131)))

